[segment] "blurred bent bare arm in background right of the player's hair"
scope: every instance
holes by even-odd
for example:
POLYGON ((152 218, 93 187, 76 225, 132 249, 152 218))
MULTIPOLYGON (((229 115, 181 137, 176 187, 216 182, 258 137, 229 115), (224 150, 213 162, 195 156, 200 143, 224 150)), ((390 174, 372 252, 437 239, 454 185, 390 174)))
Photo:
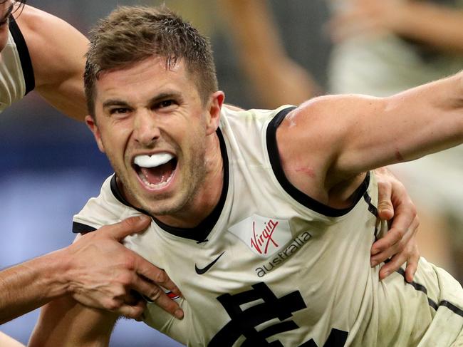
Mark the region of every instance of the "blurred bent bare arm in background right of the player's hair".
POLYGON ((239 64, 267 108, 299 105, 321 93, 310 73, 286 53, 265 0, 219 0, 239 64))

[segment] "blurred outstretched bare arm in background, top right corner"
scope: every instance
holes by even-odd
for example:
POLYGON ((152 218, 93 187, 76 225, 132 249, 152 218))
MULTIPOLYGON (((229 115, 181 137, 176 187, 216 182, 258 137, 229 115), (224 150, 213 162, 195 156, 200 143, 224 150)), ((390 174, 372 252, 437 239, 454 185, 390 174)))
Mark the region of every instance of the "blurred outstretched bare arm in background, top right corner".
POLYGON ((427 1, 350 0, 331 21, 333 38, 392 32, 463 54, 463 11, 427 1))

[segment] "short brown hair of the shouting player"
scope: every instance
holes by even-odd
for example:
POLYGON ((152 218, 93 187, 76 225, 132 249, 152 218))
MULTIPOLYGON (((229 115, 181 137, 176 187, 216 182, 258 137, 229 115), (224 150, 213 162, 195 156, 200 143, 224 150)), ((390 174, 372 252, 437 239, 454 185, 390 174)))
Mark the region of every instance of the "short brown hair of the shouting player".
POLYGON ((212 48, 197 29, 166 6, 120 6, 90 31, 84 86, 93 118, 100 73, 127 68, 151 56, 165 58, 166 68, 183 58, 203 102, 218 89, 212 48))

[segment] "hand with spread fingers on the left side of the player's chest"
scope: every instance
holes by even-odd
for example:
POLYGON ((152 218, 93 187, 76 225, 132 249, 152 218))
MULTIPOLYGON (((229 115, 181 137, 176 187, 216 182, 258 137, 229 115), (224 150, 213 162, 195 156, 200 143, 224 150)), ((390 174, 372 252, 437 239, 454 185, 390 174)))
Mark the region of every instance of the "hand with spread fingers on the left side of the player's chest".
POLYGON ((68 291, 74 299, 86 306, 139 318, 145 301, 135 300, 134 304, 125 300, 130 296, 129 301, 133 301, 130 291, 135 290, 173 316, 182 318, 178 304, 160 287, 181 295, 165 271, 120 244, 124 237, 144 231, 150 220, 146 216, 130 217, 85 234, 68 247, 68 291))

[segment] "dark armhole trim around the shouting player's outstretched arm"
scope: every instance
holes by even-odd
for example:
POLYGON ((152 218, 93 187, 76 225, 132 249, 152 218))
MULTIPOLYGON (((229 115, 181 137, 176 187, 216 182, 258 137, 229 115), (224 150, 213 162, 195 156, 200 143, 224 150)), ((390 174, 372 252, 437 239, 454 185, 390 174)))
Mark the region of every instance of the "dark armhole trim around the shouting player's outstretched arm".
MULTIPOLYGON (((365 192, 367 191, 368 185, 370 184, 370 173, 368 172, 365 180, 363 180, 362 184, 358 189, 355 191, 353 195, 353 204, 350 207, 345 209, 335 209, 333 207, 329 207, 326 204, 322 204, 317 200, 309 197, 305 193, 298 190, 294 187, 291 182, 288 181, 286 175, 284 174, 283 167, 281 167, 281 160, 278 151, 278 145, 276 143, 276 130, 278 129, 283 119, 286 117, 288 113, 294 110, 296 107, 289 107, 281 110, 277 113, 269 123, 266 133, 266 140, 267 140, 267 149, 269 151, 269 158, 270 164, 272 169, 274 170, 274 174, 276 179, 279 181, 281 187, 283 187, 286 192, 293 197, 294 200, 303 204, 305 207, 312 209, 315 212, 321 213, 328 217, 340 217, 344 214, 348 213, 351 209, 355 207, 355 204, 363 197, 365 192)), ((310 150, 310 148, 308 148, 310 150)))

